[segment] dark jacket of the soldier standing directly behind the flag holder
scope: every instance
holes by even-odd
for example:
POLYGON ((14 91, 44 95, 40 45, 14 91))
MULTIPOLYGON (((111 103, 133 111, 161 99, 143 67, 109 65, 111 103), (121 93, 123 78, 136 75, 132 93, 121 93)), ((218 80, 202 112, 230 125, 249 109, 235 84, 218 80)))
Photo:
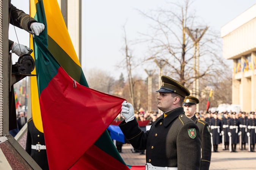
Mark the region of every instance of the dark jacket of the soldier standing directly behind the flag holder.
POLYGON ((210 158, 212 155, 212 143, 210 141, 209 124, 202 119, 197 119, 196 116, 193 116, 190 119, 196 123, 201 133, 202 159, 200 170, 209 170, 210 158))

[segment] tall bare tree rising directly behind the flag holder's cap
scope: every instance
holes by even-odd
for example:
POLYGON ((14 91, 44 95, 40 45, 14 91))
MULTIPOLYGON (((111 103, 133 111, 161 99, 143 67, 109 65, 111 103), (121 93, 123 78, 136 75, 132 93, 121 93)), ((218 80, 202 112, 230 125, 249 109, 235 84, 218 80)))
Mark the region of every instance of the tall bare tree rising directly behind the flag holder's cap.
POLYGON ((168 7, 170 8, 168 9, 160 8, 150 12, 139 11, 154 23, 151 25, 149 33, 142 33, 144 39, 139 40, 139 42, 149 44, 151 55, 145 61, 167 59, 168 64, 164 72, 188 88, 195 78, 215 77, 216 73, 225 74, 228 69, 220 55, 220 36, 208 29, 199 43, 199 75, 193 76, 195 69, 193 66, 193 41, 186 33, 186 28, 201 30, 207 25, 200 23, 200 20, 195 17, 191 3, 191 0, 184 0, 178 3, 169 3, 168 7))

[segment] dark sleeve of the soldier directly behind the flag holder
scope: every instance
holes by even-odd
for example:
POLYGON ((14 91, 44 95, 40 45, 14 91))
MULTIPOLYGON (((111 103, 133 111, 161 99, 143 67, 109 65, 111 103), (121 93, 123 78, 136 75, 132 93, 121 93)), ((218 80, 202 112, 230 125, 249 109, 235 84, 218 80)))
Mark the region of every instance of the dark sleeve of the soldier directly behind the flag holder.
POLYGON ((212 144, 210 139, 210 132, 207 130, 208 123, 206 123, 202 130, 201 142, 202 142, 202 159, 201 170, 209 170, 210 158, 212 155, 212 144))

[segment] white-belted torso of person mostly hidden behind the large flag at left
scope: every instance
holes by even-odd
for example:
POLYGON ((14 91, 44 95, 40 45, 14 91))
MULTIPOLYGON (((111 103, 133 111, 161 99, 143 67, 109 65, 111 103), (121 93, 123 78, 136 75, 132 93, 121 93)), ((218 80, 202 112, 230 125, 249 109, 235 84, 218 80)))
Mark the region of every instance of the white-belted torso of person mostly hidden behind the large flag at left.
POLYGON ((35 127, 32 118, 28 120, 26 151, 42 170, 49 170, 44 133, 35 127))

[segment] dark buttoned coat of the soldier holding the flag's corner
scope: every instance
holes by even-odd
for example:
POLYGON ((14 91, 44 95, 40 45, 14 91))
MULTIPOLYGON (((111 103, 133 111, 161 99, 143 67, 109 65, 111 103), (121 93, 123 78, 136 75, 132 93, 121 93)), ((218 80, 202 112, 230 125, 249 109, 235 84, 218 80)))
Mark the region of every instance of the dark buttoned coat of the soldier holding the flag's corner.
POLYGON ((146 149, 146 162, 158 167, 178 167, 178 170, 199 170, 201 161, 201 134, 183 108, 160 116, 144 132, 136 119, 119 124, 124 136, 137 150, 146 149))

